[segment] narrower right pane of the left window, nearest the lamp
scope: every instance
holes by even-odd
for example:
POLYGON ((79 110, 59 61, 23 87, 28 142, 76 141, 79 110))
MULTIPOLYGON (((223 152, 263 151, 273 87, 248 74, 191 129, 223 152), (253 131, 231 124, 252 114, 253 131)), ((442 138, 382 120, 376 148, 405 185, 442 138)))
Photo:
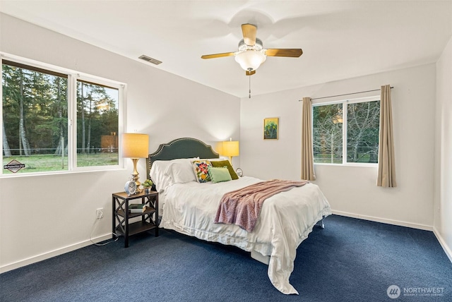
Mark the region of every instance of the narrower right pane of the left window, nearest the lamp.
POLYGON ((119 90, 77 82, 77 167, 119 164, 119 90))

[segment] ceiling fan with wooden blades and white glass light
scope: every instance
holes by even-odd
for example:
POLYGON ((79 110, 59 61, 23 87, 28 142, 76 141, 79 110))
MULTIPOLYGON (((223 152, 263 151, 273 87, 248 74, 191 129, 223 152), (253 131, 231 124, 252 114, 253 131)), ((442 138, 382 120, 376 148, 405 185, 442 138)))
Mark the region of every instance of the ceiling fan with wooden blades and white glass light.
POLYGON ((239 42, 238 52, 224 52, 222 54, 205 54, 201 59, 235 56, 235 61, 246 71, 246 75, 254 75, 256 69, 266 61, 267 56, 287 56, 297 58, 303 54, 302 49, 264 49, 262 41, 256 38, 257 26, 242 24, 243 39, 239 42))

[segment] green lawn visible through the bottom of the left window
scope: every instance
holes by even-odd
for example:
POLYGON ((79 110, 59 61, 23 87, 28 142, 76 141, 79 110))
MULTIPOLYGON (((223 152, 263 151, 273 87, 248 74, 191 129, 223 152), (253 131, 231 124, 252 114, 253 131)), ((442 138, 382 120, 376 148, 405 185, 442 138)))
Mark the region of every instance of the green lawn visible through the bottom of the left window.
MULTIPOLYGON (((16 174, 44 172, 44 171, 67 171, 68 157, 61 155, 30 155, 30 156, 11 156, 3 158, 3 166, 11 160, 25 164, 25 168, 20 169, 16 174)), ((118 164, 117 153, 95 153, 78 154, 77 167, 109 166, 118 164)), ((2 166, 2 167, 3 167, 2 166)), ((3 169, 3 174, 13 174, 8 169, 3 169)))

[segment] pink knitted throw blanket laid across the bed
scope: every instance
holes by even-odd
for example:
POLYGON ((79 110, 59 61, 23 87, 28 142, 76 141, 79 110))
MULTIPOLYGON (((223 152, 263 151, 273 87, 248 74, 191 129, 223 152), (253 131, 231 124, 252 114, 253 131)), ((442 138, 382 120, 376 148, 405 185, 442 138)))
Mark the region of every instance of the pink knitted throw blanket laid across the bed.
POLYGON ((273 179, 240 188, 223 195, 215 223, 237 224, 246 231, 253 231, 261 213, 263 202, 271 196, 301 187, 309 181, 283 181, 273 179))

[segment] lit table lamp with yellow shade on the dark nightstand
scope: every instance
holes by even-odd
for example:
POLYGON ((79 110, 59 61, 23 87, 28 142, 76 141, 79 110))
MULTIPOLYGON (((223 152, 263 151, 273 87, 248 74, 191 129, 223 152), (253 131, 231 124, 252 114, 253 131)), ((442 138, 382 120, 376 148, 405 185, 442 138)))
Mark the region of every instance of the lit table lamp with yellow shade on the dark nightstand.
POLYGON ((121 139, 122 157, 129 157, 133 162, 132 180, 136 183, 136 188, 140 186, 136 163, 138 159, 148 157, 149 135, 140 133, 123 133, 121 139))

